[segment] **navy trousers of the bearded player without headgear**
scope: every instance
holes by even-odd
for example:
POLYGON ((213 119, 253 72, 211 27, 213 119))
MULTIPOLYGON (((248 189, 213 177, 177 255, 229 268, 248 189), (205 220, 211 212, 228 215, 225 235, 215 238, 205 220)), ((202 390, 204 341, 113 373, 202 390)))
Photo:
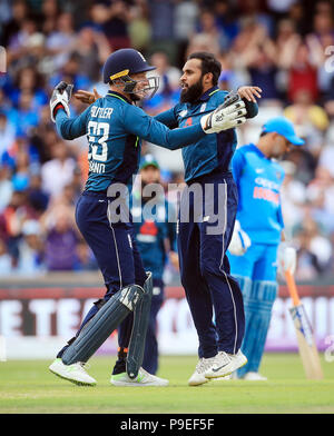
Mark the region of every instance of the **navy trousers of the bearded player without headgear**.
POLYGON ((180 200, 178 251, 181 284, 198 334, 198 356, 235 354, 244 337, 245 315, 226 250, 237 211, 237 187, 228 172, 205 175, 187 188, 180 200))

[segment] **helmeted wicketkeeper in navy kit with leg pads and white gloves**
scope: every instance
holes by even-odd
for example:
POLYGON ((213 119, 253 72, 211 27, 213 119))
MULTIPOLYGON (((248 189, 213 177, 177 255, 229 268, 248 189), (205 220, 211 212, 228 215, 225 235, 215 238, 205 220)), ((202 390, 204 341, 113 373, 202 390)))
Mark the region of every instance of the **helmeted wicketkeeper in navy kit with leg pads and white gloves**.
POLYGON ((127 214, 122 207, 124 190, 120 190, 120 186, 131 189, 141 139, 174 150, 246 120, 245 103, 237 102, 227 108, 213 108, 216 110, 203 113, 195 126, 170 130, 135 105, 157 90, 157 77, 147 76, 153 69, 137 50, 121 49, 110 54, 104 66, 104 81, 109 83, 110 91, 80 116, 69 118, 72 86, 59 83, 50 100, 51 119, 59 135, 65 139, 84 135, 88 138, 89 176, 77 204, 76 220, 96 256, 107 287, 106 295, 96 301, 77 335, 49 367, 56 375, 76 384, 96 384, 85 363, 119 326, 120 350, 129 350, 126 357, 118 356, 111 384, 168 384, 141 368, 153 294, 151 275, 143 266, 131 218, 124 219, 127 214))

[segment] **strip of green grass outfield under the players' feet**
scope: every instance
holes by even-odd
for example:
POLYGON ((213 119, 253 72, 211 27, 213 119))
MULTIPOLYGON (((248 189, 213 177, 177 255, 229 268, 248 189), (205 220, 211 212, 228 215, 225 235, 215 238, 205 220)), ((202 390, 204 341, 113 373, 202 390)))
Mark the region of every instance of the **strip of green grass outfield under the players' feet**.
POLYGON ((120 388, 109 384, 115 357, 90 360, 98 385, 79 387, 49 373, 50 361, 0 363, 0 413, 233 414, 334 413, 334 363, 322 358, 325 378, 306 380, 296 354, 267 354, 262 373, 268 382, 220 380, 187 386, 195 356, 163 357, 165 388, 120 388))

